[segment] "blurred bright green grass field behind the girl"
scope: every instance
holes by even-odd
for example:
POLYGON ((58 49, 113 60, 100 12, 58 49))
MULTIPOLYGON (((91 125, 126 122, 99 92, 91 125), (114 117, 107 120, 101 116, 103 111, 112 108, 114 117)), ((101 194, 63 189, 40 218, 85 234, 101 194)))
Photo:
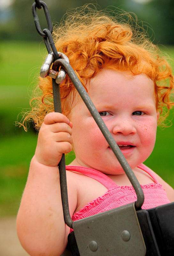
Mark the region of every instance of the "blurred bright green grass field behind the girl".
MULTIPOLYGON (((174 58, 174 47, 164 50, 174 58)), ((2 42, 0 46, 0 217, 17 214, 34 155, 36 132, 32 125, 25 132, 15 121, 29 108, 29 96, 46 52, 43 42, 2 42)), ((172 117, 171 113, 169 119, 172 117)), ((158 128, 154 151, 145 164, 174 188, 173 144, 174 126, 158 128)), ((66 164, 73 158, 73 154, 66 156, 66 164)))

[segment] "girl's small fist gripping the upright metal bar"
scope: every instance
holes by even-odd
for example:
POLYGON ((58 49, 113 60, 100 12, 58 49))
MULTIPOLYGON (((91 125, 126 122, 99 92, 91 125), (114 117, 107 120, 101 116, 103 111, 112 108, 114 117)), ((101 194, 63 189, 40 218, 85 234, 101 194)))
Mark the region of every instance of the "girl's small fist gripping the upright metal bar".
POLYGON ((41 164, 57 166, 62 154, 72 150, 72 122, 60 113, 49 113, 39 131, 35 157, 41 164))

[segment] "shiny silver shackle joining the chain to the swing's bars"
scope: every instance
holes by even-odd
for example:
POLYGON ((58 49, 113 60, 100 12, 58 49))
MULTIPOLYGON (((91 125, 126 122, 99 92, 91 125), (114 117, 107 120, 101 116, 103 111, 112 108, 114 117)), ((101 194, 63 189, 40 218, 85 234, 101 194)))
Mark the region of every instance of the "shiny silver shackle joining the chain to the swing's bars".
MULTIPOLYGON (((57 53, 58 53, 59 59, 64 59, 68 62, 68 64, 70 63, 68 57, 64 53, 62 52, 57 52, 57 53)), ((41 67, 40 76, 42 78, 45 78, 46 76, 50 76, 56 79, 57 84, 62 84, 65 79, 66 72, 64 71, 63 68, 57 71, 58 64, 54 64, 53 59, 54 59, 54 54, 53 52, 51 52, 48 54, 45 62, 41 67), (52 69, 50 69, 52 63, 53 63, 53 67, 52 69)))

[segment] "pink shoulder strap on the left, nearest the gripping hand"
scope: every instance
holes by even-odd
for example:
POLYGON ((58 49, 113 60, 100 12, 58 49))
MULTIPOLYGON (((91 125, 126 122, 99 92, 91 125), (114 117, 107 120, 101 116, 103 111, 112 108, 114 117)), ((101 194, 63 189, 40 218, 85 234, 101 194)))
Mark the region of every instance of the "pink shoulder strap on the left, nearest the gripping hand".
POLYGON ((97 170, 87 168, 84 166, 66 166, 67 171, 80 172, 94 180, 99 181, 103 186, 108 189, 118 188, 117 184, 113 180, 111 180, 107 175, 97 170))

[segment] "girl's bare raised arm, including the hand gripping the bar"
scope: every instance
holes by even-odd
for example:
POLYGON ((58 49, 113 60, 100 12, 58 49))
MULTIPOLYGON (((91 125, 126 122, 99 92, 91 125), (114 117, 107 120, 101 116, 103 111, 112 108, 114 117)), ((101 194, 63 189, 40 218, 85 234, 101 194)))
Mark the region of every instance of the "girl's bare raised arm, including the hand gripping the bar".
MULTIPOLYGON (((62 153, 72 149, 72 123, 60 113, 50 113, 39 132, 18 216, 17 232, 32 256, 58 256, 64 252, 69 227, 64 223, 59 171, 62 153)), ((70 214, 77 205, 73 181, 68 184, 70 214)))

